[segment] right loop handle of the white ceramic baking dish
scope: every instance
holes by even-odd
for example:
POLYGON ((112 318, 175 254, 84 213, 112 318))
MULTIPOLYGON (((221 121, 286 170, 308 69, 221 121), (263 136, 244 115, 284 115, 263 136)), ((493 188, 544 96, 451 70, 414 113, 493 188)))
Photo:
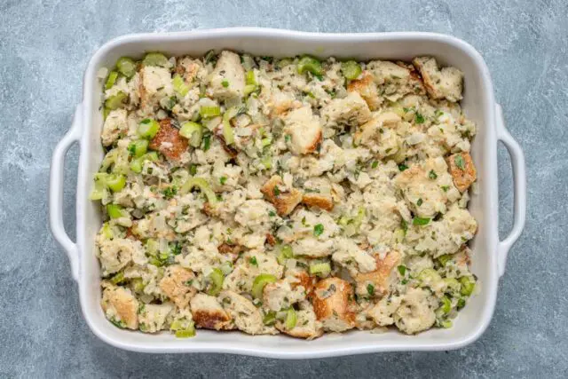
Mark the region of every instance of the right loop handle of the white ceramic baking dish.
POLYGON ((497 264, 499 268, 499 275, 505 272, 505 265, 507 263, 507 254, 511 246, 517 241, 525 227, 526 218, 526 174, 525 174, 525 154, 523 149, 517 141, 509 134, 509 130, 505 128, 505 121, 503 112, 499 104, 495 105, 496 125, 497 125, 497 139, 499 139, 507 150, 513 166, 513 188, 515 195, 515 217, 513 228, 503 241, 499 242, 497 264))

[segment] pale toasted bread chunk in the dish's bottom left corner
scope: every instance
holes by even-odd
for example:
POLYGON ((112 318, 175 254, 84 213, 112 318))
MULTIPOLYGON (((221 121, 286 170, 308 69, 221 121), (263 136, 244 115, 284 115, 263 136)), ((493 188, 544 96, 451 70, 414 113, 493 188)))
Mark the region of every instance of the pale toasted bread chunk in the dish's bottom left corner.
POLYGON ((138 329, 138 300, 130 289, 108 284, 100 304, 108 320, 123 328, 138 329))

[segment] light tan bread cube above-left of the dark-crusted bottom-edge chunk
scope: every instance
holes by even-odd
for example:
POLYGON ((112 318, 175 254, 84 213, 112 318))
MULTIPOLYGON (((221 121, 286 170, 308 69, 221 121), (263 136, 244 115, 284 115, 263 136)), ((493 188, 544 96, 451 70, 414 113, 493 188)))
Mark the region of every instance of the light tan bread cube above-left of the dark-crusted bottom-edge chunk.
POLYGON ((190 284, 195 275, 180 265, 170 265, 166 268, 160 288, 166 296, 177 305, 177 308, 185 308, 189 304, 197 289, 190 284))

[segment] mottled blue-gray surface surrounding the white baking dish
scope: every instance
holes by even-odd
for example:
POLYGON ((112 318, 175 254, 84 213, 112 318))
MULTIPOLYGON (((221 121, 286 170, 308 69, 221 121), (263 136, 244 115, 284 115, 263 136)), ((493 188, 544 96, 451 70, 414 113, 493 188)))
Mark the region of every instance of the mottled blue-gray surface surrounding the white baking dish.
MULTIPOLYGON (((0 376, 566 377, 567 16, 566 0, 0 0, 0 376), (292 362, 144 355, 92 335, 47 221, 51 152, 81 101, 87 62, 102 43, 127 33, 234 26, 436 31, 481 51, 509 130, 525 149, 529 198, 525 233, 509 253, 493 322, 477 343, 460 351, 292 362)), ((75 147, 66 168, 72 235, 77 156, 75 147)), ((503 147, 499 157, 504 236, 512 219, 511 170, 503 147)))

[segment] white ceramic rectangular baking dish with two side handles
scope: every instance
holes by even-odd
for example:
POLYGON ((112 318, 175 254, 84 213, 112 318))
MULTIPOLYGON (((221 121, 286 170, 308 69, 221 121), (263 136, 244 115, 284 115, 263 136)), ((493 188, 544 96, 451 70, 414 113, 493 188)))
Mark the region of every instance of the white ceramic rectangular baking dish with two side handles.
POLYGON ((265 28, 225 28, 181 33, 122 36, 102 46, 92 57, 83 81, 83 102, 76 107, 71 129, 55 148, 51 162, 51 231, 67 252, 73 278, 79 285, 83 315, 93 333, 106 343, 131 351, 225 352, 279 359, 304 359, 376 351, 436 351, 460 348, 474 342, 487 328, 497 296, 497 284, 505 269, 507 253, 525 225, 525 160, 517 142, 503 124, 501 108, 493 99, 489 71, 479 53, 452 36, 430 33, 321 34, 265 28), (214 49, 247 51, 261 56, 286 57, 309 53, 339 59, 402 59, 432 55, 441 65, 459 67, 465 74, 462 107, 477 123, 471 154, 477 164, 478 193, 469 209, 477 218, 478 232, 472 241, 472 272, 480 280, 480 292, 462 310, 454 328, 430 329, 418 336, 396 331, 372 334, 351 331, 326 335, 314 341, 288 336, 248 336, 240 332, 199 330, 190 339, 170 333, 146 335, 115 328, 101 311, 99 262, 94 236, 101 225, 99 205, 89 200, 92 175, 103 157, 100 130, 103 124, 100 67, 113 67, 122 56, 141 57, 146 51, 171 55, 201 56, 214 49), (511 233, 499 241, 497 143, 509 150, 514 171, 515 220, 511 233), (80 146, 76 194, 76 241, 63 227, 63 163, 69 146, 80 146))

